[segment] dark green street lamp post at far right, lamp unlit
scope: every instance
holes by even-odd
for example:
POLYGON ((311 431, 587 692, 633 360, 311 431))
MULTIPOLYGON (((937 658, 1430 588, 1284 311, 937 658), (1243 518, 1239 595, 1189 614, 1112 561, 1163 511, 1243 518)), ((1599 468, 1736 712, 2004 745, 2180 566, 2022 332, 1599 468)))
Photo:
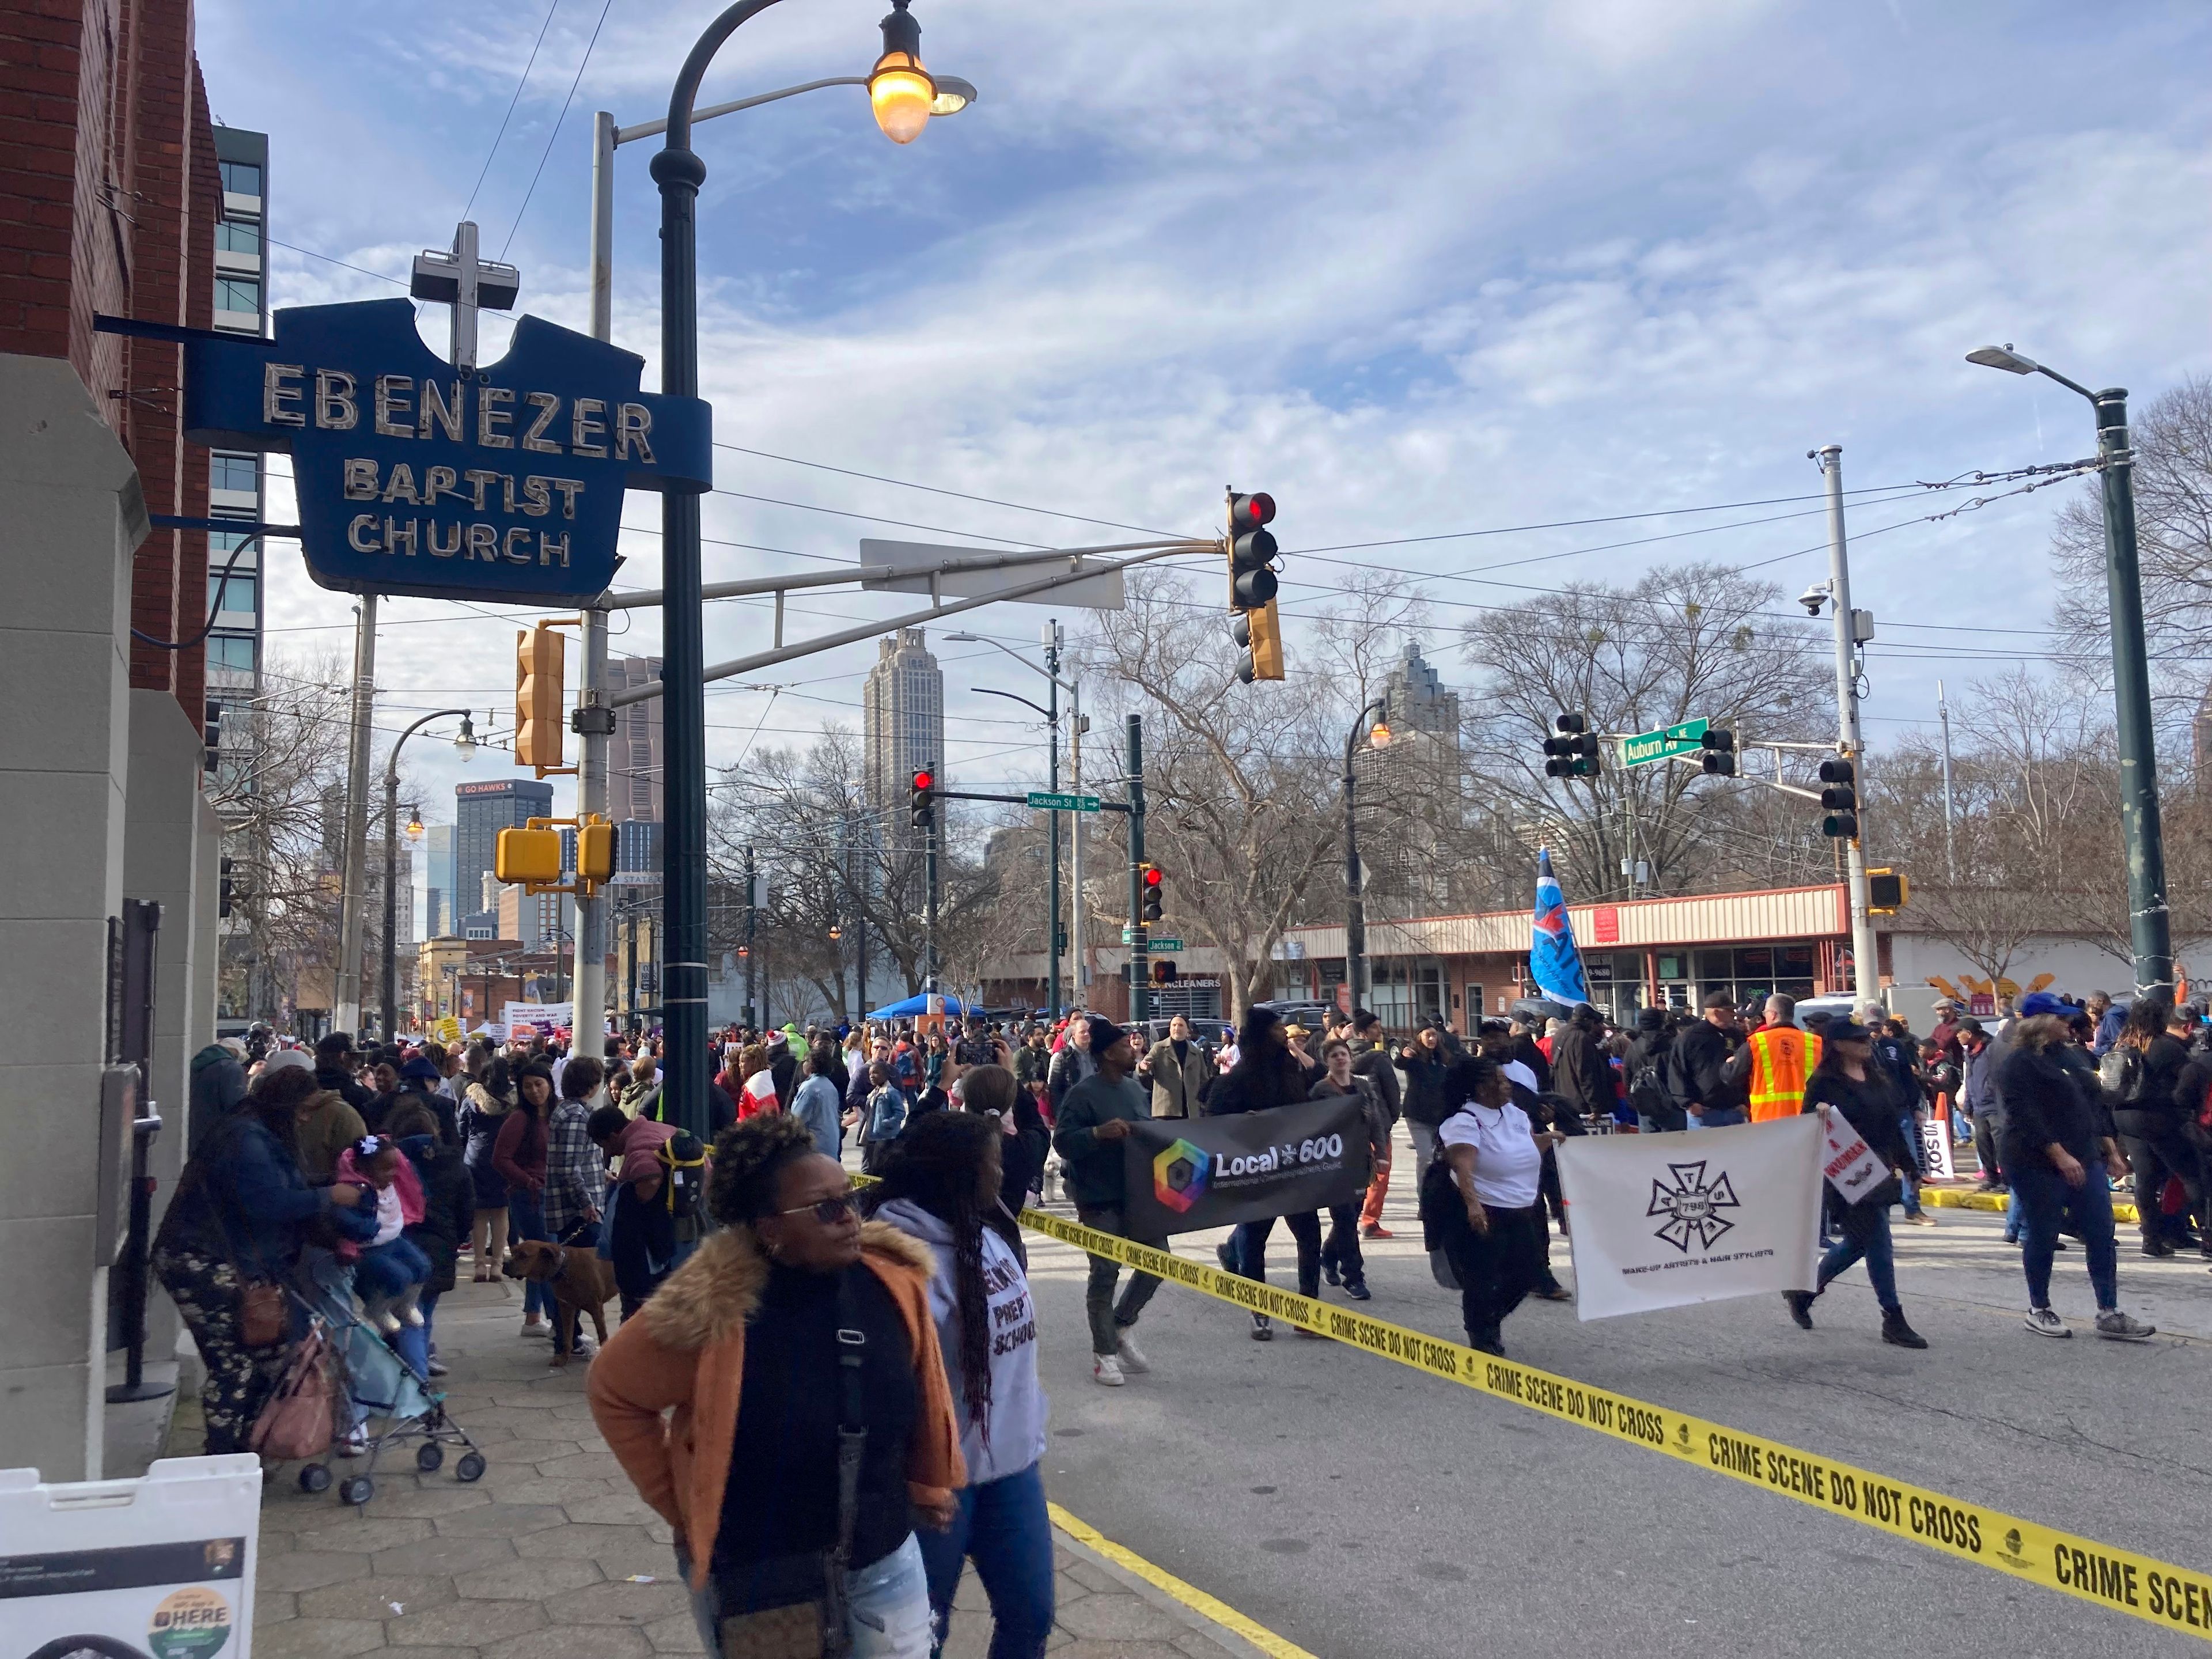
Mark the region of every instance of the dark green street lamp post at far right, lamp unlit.
POLYGON ((2172 995, 2174 938, 2166 909, 2166 838, 2159 832, 2159 759, 2150 728, 2150 661, 2143 646, 2143 573, 2135 544, 2135 451, 2128 449, 2128 392, 2090 392, 2057 369, 1984 345, 1969 363, 2006 374, 2042 374, 2088 398, 2097 411, 2104 487, 2104 588, 2112 613, 2112 703, 2119 728, 2119 838, 2128 858, 2128 933, 2135 993, 2172 995))

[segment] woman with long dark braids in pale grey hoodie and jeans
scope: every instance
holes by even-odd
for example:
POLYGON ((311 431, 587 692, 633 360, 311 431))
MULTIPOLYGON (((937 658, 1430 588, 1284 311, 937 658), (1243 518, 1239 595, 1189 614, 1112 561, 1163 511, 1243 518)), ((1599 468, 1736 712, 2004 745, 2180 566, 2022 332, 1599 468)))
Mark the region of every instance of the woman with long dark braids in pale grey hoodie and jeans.
MULTIPOLYGON (((1011 1104, 1013 1073, 998 1073, 1011 1104)), ((1044 1513, 1044 1389, 1037 1383, 1037 1310, 1022 1272, 1022 1234, 1000 1203, 1000 1159, 1015 1146, 998 1119, 929 1113, 898 1137, 869 1201, 938 1259, 929 1312, 953 1360, 953 1409, 969 1486, 951 1531, 922 1537, 936 1648, 951 1628, 967 1559, 991 1597, 991 1659, 1037 1659, 1053 1635, 1053 1522, 1044 1513)))

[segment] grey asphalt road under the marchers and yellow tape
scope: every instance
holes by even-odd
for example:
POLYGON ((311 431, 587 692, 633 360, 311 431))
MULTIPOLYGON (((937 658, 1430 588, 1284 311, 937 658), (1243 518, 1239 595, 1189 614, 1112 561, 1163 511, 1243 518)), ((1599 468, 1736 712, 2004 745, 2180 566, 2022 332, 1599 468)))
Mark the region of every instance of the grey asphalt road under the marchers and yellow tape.
MULTIPOLYGON (((1402 1135, 1400 1135, 1402 1139, 1402 1135)), ((1420 1254, 1400 1150, 1369 1243, 1365 1312, 1464 1340, 1420 1254)), ((2121 1305, 2146 1345, 2088 1334, 2081 1254, 2055 1307, 2077 1336, 2022 1329, 2002 1219, 1898 1228, 1922 1354, 1880 1343, 1865 1270, 1796 1329, 1778 1298, 1582 1325, 1526 1303, 1506 1352, 2073 1533, 2212 1568, 2205 1385, 2212 1274, 2121 1237, 2121 1305)), ((1183 1234, 1210 1259, 1219 1234, 1183 1234)), ((1566 1245, 1555 1245, 1571 1283, 1566 1245)), ((1281 1228, 1270 1279, 1294 1283, 1281 1228)), ((1139 1325, 1152 1374, 1091 1380, 1084 1256, 1033 1234, 1053 1394, 1046 1491, 1115 1542, 1325 1659, 1469 1652, 1818 1655, 1845 1646, 2028 1655, 2205 1652, 2205 1644, 2017 1584, 1402 1365, 1164 1285, 1139 1325)), ((1323 1292, 1336 1298, 1338 1292, 1323 1292)))

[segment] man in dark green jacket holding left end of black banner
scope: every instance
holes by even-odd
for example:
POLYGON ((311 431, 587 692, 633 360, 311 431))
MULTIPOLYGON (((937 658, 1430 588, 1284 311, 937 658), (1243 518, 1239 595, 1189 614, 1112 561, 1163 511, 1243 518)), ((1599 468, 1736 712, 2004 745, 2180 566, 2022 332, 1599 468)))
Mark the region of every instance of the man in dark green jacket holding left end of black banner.
MULTIPOLYGON (((1137 1068, 1130 1035, 1113 1020, 1091 1015, 1088 1037, 1097 1073, 1068 1088, 1053 1130, 1053 1150, 1060 1152, 1060 1172, 1075 1201, 1075 1219, 1086 1228, 1166 1250, 1166 1234, 1137 1237, 1126 1223, 1121 1141, 1128 1139, 1130 1124, 1152 1115, 1146 1091, 1130 1077, 1137 1068)), ((1152 1369, 1128 1334, 1159 1290, 1159 1279, 1130 1272, 1128 1287, 1115 1305, 1119 1274, 1121 1265, 1110 1256, 1091 1256, 1091 1285, 1084 1292, 1084 1310, 1091 1314, 1091 1380, 1108 1389, 1121 1387, 1130 1374, 1152 1369)))

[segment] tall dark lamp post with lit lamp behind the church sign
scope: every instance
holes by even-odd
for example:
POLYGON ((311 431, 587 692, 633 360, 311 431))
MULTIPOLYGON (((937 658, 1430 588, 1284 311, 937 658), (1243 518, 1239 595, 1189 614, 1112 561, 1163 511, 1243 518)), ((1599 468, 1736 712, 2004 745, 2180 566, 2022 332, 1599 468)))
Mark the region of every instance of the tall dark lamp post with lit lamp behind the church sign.
MULTIPOLYGON (((692 44, 668 93, 666 144, 653 157, 661 188, 661 392, 699 396, 699 186, 706 161, 692 150, 699 82, 723 42, 776 0, 739 0, 692 44)), ((876 126, 894 144, 911 144, 936 106, 938 86, 922 69, 922 27, 891 0, 883 20, 883 55, 867 77, 876 126)), ((597 237, 595 237, 597 248, 597 237)), ((597 285, 595 285, 597 292, 597 285)), ((595 299, 597 303, 597 299, 595 299)), ((661 498, 661 686, 664 768, 668 779, 666 918, 668 960, 661 980, 661 1024, 668 1033, 668 1102, 672 1121, 706 1135, 706 641, 699 615, 699 498, 661 498)))

